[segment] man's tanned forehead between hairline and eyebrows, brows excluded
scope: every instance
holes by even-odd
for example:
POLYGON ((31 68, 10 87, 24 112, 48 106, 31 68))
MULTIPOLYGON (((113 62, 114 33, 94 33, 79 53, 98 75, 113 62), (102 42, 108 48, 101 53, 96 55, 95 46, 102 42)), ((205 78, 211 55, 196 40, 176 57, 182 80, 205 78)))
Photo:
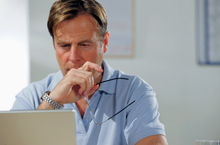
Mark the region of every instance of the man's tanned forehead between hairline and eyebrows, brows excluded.
POLYGON ((73 19, 60 23, 55 30, 55 38, 92 37, 99 34, 99 24, 89 14, 81 14, 73 19))

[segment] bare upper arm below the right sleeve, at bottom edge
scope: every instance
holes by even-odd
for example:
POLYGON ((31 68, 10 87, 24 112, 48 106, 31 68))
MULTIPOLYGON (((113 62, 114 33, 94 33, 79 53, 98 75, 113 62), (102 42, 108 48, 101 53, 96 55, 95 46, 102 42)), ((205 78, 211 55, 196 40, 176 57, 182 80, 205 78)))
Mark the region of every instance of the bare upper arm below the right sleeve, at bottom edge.
POLYGON ((153 135, 141 139, 135 145, 168 145, 168 143, 165 136, 153 135))

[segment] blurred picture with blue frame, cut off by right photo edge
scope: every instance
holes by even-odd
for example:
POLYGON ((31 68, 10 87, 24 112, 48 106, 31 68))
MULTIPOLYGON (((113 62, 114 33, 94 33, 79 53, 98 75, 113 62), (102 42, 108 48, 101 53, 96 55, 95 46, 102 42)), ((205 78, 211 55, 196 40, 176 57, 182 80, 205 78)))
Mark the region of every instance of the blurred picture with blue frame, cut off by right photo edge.
POLYGON ((220 0, 197 0, 199 64, 220 65, 220 0))

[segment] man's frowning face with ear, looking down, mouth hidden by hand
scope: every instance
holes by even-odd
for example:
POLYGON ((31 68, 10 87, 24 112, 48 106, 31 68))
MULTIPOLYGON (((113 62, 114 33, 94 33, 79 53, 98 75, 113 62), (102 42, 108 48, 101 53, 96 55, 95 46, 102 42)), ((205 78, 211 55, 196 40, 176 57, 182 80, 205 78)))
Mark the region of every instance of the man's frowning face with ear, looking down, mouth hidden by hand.
POLYGON ((99 25, 89 14, 62 22, 54 32, 54 47, 59 67, 65 76, 80 68, 86 61, 102 64, 108 48, 109 33, 100 41, 99 25))

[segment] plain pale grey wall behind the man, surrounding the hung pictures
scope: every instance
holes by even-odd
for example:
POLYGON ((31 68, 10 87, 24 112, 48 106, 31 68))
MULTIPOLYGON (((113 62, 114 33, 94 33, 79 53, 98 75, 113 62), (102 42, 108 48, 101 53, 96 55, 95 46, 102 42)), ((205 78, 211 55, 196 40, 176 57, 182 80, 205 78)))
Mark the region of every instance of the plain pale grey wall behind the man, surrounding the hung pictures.
MULTIPOLYGON (((53 1, 30 0, 32 81, 58 70, 46 29, 53 1)), ((220 66, 197 64, 195 1, 136 0, 135 8, 135 57, 106 60, 154 88, 170 145, 220 140, 220 66)))

